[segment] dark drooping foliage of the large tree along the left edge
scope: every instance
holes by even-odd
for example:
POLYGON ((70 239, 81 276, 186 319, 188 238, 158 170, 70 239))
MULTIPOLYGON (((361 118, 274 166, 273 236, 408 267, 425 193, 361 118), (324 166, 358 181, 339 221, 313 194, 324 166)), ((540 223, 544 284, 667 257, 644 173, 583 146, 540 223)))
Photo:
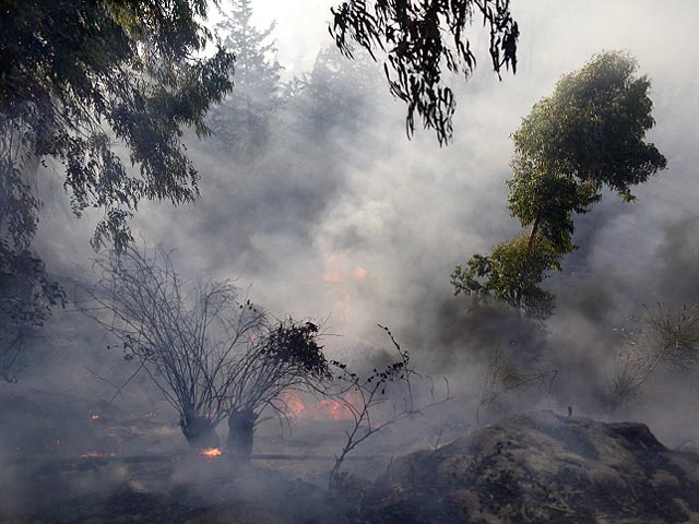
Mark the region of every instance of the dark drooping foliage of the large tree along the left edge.
POLYGON ((182 126, 205 134, 203 116, 230 88, 233 57, 198 22, 204 0, 4 2, 0 21, 1 374, 13 378, 27 333, 64 294, 32 252, 40 201, 27 175, 64 167, 73 213, 104 212, 93 246, 123 249, 142 199, 189 202, 198 175, 182 126), (138 172, 115 153, 122 143, 138 172), (4 358, 7 355, 14 355, 4 358))

